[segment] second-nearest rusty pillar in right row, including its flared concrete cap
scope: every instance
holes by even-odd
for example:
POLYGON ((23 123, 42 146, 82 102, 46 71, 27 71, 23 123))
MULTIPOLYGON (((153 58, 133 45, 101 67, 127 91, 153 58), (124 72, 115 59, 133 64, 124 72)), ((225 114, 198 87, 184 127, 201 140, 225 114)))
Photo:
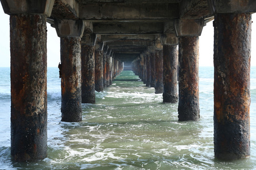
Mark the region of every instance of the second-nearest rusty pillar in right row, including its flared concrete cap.
POLYGON ((199 36, 204 19, 177 20, 179 38, 179 121, 197 121, 199 109, 199 36), (189 25, 189 27, 188 27, 189 25))

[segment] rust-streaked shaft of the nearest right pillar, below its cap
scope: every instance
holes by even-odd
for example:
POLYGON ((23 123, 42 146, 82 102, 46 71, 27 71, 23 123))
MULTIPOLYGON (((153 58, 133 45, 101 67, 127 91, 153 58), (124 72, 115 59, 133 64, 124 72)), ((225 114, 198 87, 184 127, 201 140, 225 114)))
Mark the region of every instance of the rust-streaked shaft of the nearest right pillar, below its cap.
POLYGON ((250 14, 216 14, 214 21, 214 154, 250 155, 250 14), (231 29, 232 28, 232 29, 231 29))

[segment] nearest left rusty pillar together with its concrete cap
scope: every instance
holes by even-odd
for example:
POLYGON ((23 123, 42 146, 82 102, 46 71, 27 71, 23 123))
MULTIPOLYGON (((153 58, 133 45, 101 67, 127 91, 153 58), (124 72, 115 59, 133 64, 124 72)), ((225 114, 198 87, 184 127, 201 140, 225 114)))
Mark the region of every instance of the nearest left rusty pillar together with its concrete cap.
POLYGON ((16 162, 47 157, 47 30, 53 1, 7 3, 10 14, 11 156, 16 162), (34 8, 28 8, 30 5, 34 8), (11 11, 10 11, 11 9, 11 11))

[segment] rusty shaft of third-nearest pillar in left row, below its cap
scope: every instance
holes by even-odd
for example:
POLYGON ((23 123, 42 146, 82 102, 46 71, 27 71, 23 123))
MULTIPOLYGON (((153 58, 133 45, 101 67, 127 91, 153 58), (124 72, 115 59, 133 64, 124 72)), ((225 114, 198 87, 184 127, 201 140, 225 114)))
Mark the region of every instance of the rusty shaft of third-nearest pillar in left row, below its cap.
POLYGON ((82 103, 95 103, 94 46, 81 46, 82 103))

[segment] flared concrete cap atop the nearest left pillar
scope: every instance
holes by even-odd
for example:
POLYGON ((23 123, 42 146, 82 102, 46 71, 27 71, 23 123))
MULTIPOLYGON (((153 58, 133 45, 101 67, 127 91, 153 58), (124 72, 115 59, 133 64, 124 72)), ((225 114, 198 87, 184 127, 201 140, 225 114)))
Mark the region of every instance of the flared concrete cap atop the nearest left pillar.
POLYGON ((54 0, 1 0, 5 14, 45 14, 51 16, 54 0))

